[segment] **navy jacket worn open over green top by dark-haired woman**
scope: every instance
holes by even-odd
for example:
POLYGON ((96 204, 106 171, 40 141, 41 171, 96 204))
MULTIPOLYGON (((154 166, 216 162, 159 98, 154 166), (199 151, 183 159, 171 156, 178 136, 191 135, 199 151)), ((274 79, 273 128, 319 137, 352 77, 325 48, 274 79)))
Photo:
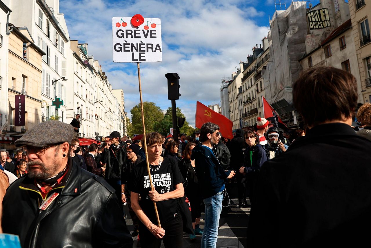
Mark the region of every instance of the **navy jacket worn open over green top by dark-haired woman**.
POLYGON ((248 147, 244 151, 244 154, 245 154, 245 159, 244 159, 244 166, 245 166, 244 172, 245 173, 259 171, 263 163, 269 160, 267 151, 262 145, 255 145, 253 147, 248 147), (250 160, 251 150, 253 151, 252 163, 250 160))

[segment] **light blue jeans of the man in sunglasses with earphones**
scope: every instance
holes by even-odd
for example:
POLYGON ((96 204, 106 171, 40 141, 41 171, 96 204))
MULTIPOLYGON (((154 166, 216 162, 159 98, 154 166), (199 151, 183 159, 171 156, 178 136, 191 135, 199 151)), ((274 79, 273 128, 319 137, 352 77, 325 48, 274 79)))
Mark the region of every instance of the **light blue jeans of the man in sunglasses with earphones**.
POLYGON ((219 218, 223 191, 204 199, 205 226, 201 238, 201 248, 215 248, 218 239, 219 218))

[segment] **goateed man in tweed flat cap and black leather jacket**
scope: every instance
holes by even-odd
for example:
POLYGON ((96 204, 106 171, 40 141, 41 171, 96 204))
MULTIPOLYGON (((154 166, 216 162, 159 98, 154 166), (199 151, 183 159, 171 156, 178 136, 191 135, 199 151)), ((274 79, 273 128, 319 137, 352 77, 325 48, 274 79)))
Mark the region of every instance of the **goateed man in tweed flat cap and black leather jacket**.
POLYGON ((114 189, 69 157, 71 125, 45 121, 15 145, 28 173, 9 186, 1 226, 26 247, 132 247, 114 189))

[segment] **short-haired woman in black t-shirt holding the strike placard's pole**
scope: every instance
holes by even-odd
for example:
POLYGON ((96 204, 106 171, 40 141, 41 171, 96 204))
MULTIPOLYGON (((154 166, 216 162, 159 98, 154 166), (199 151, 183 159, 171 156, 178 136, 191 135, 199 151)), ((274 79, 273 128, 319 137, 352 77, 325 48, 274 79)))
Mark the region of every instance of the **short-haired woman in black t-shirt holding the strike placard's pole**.
MULTIPOLYGON (((148 161, 154 191, 151 190, 146 161, 135 166, 128 181, 131 206, 137 214, 142 247, 183 247, 183 221, 177 198, 184 196, 183 177, 173 160, 161 157, 163 137, 146 134, 148 161), (139 201, 139 195, 141 200, 139 201), (157 203, 161 227, 157 224, 154 204, 157 203)), ((141 141, 144 144, 144 137, 141 141)))

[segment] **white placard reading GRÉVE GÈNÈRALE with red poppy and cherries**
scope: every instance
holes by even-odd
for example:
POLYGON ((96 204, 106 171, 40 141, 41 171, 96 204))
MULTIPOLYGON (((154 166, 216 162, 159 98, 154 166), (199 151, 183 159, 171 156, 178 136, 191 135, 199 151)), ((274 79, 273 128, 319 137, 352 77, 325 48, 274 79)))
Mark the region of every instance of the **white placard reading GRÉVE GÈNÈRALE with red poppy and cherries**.
POLYGON ((112 17, 114 62, 162 62, 161 19, 112 17))

